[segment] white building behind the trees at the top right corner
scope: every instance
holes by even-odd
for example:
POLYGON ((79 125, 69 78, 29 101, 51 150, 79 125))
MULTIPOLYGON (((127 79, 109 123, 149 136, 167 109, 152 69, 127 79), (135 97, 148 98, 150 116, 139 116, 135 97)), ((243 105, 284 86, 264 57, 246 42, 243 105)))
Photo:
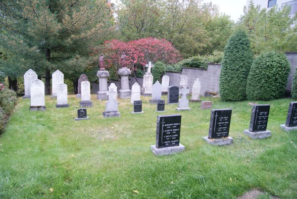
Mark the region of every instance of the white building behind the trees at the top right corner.
MULTIPOLYGON (((247 6, 250 0, 247 0, 247 6)), ((288 5, 291 7, 290 16, 293 17, 297 12, 297 0, 253 0, 255 5, 260 5, 260 8, 270 8, 275 5, 282 7, 288 5)))

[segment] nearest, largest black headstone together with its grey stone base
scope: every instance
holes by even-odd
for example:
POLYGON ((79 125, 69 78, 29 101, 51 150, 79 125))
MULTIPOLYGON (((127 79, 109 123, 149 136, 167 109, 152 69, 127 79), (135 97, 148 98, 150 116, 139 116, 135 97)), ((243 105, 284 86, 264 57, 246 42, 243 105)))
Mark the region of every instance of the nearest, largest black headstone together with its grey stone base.
POLYGON ((181 115, 158 115, 156 144, 150 149, 155 155, 168 155, 181 152, 185 146, 180 144, 181 115))

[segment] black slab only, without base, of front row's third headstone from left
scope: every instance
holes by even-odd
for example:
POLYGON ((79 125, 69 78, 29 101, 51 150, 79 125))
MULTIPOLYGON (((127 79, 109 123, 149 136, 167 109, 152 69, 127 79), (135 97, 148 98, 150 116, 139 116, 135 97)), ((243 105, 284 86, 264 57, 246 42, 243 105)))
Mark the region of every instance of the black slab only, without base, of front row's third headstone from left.
POLYGON ((269 104, 253 105, 251 109, 251 117, 249 123, 250 132, 266 131, 268 116, 269 116, 269 104))

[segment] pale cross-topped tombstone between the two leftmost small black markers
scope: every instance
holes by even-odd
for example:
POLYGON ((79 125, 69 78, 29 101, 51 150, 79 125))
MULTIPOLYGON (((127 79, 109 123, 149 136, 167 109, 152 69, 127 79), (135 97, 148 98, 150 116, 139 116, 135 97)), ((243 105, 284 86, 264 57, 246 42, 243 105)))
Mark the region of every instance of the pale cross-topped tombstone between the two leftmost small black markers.
POLYGON ((109 91, 106 93, 110 98, 105 104, 105 111, 103 111, 103 117, 119 117, 121 114, 118 112, 118 103, 114 99, 114 95, 117 95, 117 93, 113 90, 113 88, 109 88, 109 91))

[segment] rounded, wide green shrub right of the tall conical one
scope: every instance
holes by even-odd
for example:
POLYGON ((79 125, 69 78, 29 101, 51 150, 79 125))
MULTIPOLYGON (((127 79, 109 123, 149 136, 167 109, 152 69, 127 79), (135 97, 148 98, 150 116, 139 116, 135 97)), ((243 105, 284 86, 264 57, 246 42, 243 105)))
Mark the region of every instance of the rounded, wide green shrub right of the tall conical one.
POLYGON ((290 63, 283 53, 265 52, 255 58, 247 77, 248 100, 271 100, 285 93, 290 63))

